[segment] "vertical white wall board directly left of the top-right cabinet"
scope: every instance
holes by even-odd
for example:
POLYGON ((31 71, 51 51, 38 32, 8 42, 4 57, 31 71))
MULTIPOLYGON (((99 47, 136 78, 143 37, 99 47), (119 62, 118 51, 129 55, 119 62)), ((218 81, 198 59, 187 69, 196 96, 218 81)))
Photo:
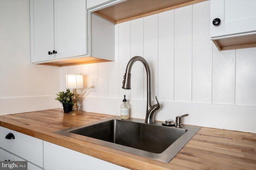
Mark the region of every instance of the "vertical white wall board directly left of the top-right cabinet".
POLYGON ((210 3, 193 6, 192 16, 192 102, 212 103, 212 41, 210 3))

